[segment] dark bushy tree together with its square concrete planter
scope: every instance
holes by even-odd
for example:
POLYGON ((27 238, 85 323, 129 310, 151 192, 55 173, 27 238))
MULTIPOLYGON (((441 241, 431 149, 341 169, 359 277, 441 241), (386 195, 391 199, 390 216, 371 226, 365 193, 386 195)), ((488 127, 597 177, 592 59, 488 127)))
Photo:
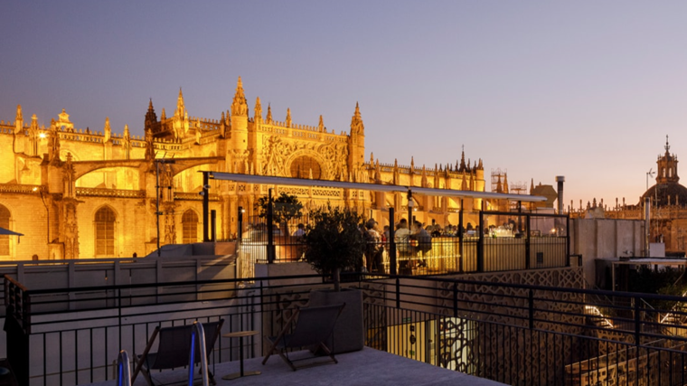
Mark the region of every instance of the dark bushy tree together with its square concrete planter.
POLYGON ((309 213, 310 223, 303 236, 305 259, 319 273, 331 275, 334 288, 310 292, 310 305, 345 303, 343 312, 334 327, 334 353, 362 350, 364 331, 362 326, 362 292, 358 289, 341 288, 341 272, 353 269, 360 272, 362 253, 365 249, 360 226, 362 216, 348 208, 327 204, 309 213))

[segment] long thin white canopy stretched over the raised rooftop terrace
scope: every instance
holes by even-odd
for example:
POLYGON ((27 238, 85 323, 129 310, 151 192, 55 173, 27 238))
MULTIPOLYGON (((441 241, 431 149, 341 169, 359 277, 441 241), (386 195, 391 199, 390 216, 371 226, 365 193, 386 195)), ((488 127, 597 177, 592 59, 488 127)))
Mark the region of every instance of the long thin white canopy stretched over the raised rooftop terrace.
POLYGON ((491 200, 510 200, 522 202, 543 202, 546 197, 529 194, 506 194, 474 191, 458 191, 453 189, 421 188, 418 186, 403 186, 390 184, 346 183, 343 181, 310 180, 303 178, 272 177, 267 175, 235 174, 209 172, 210 178, 215 180, 236 181, 246 184, 270 184, 287 186, 323 186, 340 189, 360 189, 373 192, 419 193, 442 197, 481 198, 491 200))

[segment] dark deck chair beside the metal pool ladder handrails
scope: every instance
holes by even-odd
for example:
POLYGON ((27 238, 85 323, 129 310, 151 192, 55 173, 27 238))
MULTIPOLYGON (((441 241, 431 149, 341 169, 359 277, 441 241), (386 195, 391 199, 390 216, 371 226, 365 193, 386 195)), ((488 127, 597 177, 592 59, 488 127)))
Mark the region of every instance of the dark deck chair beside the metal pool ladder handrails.
MULTIPOLYGON (((206 357, 212 353, 217 338, 220 336, 221 326, 224 324, 224 319, 216 322, 203 323, 202 328, 205 332, 205 348, 207 350, 206 357)), ((151 371, 183 368, 189 365, 189 351, 191 349, 191 334, 193 325, 177 325, 174 327, 155 327, 155 331, 146 344, 146 349, 141 355, 135 355, 136 368, 134 375, 131 377, 131 383, 136 381, 138 372, 142 372, 146 378, 149 386, 155 386, 151 371), (155 343, 157 335, 160 336, 159 344, 157 345, 157 352, 150 353, 150 349, 155 343)), ((199 347, 195 347, 196 361, 193 364, 200 362, 199 347)), ((192 364, 192 365, 193 365, 192 364)), ((212 384, 216 384, 212 372, 208 372, 208 376, 212 384)))

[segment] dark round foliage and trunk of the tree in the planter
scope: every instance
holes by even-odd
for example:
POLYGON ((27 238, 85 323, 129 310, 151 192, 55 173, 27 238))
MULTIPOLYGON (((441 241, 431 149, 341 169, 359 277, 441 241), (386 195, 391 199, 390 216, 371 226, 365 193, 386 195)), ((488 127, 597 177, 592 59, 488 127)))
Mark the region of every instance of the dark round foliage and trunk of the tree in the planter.
POLYGON ((339 290, 339 273, 346 268, 360 269, 365 240, 360 231, 362 215, 331 203, 309 213, 310 224, 303 238, 305 258, 317 272, 333 275, 339 290))

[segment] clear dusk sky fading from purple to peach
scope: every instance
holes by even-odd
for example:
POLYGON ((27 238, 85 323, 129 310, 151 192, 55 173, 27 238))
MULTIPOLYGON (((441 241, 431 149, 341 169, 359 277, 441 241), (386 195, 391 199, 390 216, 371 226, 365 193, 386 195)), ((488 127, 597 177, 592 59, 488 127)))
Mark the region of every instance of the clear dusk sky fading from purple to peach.
MULTIPOLYGON (((636 203, 687 156, 684 1, 14 1, 0 23, 0 119, 143 135, 148 100, 219 119, 243 80, 275 120, 348 131, 366 159, 481 158, 509 183, 566 178, 564 202, 636 203), (648 180, 649 186, 654 184, 648 180)), ((678 172, 680 169, 678 169, 678 172)), ((687 172, 685 178, 687 178, 687 172)), ((489 185, 489 184, 487 184, 489 185)), ((490 187, 487 187, 487 191, 490 187)))

